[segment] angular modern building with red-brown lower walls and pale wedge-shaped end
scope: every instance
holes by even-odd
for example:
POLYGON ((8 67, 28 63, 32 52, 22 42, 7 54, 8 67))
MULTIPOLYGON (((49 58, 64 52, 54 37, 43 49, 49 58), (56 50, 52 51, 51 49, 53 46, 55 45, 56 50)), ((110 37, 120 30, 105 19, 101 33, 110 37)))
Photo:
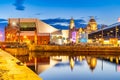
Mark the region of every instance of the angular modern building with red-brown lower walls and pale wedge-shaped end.
POLYGON ((58 29, 34 18, 10 18, 5 27, 5 41, 49 44, 51 34, 58 29))

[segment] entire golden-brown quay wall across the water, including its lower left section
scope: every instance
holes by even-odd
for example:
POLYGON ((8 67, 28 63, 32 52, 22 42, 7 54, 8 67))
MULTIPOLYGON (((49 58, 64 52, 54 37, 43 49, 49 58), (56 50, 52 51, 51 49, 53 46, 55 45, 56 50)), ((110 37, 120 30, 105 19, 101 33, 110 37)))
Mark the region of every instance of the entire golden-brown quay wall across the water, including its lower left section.
POLYGON ((66 46, 66 45, 31 45, 27 48, 5 48, 5 51, 11 53, 11 55, 29 55, 29 52, 42 52, 50 53, 54 52, 63 54, 83 54, 83 55, 120 55, 120 46, 66 46), (64 52, 64 53, 63 53, 64 52))

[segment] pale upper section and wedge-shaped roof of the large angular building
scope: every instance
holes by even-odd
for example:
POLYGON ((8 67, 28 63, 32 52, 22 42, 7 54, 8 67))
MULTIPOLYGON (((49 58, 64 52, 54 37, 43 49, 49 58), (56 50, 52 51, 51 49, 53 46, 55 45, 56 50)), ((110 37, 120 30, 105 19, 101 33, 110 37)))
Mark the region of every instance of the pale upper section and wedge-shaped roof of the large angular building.
POLYGON ((19 27, 35 27, 37 29, 37 33, 53 33, 55 31, 58 31, 59 29, 54 28, 53 26, 48 25, 47 23, 35 19, 35 18, 10 18, 8 20, 9 24, 15 23, 16 26, 20 24, 19 27), (35 25, 34 25, 35 23, 35 25))

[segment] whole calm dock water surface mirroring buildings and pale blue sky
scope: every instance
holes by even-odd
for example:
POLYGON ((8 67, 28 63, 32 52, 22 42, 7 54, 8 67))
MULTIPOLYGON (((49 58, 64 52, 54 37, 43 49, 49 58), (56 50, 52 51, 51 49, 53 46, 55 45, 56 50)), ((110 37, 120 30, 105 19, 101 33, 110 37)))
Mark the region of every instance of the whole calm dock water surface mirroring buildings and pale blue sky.
POLYGON ((120 80, 119 55, 41 52, 16 57, 43 80, 120 80))

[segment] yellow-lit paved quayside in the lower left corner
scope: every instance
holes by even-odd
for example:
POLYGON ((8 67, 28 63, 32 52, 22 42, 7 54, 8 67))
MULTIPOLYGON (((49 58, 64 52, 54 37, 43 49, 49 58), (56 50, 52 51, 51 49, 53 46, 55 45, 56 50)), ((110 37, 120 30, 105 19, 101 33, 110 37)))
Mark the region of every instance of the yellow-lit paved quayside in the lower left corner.
POLYGON ((0 80, 42 80, 18 59, 0 49, 0 80))

